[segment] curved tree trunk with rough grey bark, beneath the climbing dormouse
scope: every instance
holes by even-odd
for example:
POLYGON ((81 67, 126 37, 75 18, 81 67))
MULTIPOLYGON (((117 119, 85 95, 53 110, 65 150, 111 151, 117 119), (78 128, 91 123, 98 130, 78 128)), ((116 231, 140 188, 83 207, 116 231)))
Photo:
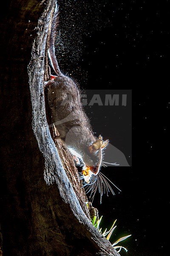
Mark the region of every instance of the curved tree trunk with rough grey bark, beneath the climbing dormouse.
POLYGON ((62 142, 57 151, 48 128, 43 81, 53 5, 11 0, 1 15, 0 246, 3 256, 116 256, 91 224, 73 160, 62 142))

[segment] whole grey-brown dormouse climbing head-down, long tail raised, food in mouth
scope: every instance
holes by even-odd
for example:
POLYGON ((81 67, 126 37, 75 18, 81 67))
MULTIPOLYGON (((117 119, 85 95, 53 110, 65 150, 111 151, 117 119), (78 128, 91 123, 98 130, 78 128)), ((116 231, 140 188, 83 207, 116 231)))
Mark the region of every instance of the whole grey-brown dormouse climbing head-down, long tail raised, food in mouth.
POLYGON ((56 75, 51 76, 51 81, 45 82, 48 86, 51 119, 59 132, 59 138, 63 140, 71 154, 78 157, 84 164, 82 175, 89 183, 91 176, 99 173, 102 150, 108 145, 108 140, 103 142, 101 136, 99 138, 94 136, 88 117, 81 105, 77 84, 59 69, 54 49, 57 21, 56 4, 48 49, 48 56, 56 75))

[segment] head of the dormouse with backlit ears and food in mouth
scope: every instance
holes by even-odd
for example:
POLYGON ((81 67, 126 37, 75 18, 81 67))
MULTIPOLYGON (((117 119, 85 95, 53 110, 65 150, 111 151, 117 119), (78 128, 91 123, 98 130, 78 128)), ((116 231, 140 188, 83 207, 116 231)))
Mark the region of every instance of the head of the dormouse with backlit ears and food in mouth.
POLYGON ((89 183, 92 175, 97 175, 102 163, 102 150, 108 145, 109 140, 103 141, 102 136, 99 135, 99 139, 96 139, 88 148, 86 148, 86 154, 82 156, 82 160, 85 163, 82 175, 87 183, 89 183))

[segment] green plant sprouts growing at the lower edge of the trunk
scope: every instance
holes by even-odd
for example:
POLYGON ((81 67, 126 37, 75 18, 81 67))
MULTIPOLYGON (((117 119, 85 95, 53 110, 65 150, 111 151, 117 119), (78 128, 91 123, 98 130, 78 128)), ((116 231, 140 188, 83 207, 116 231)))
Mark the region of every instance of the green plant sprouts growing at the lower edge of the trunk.
MULTIPOLYGON (((102 216, 102 217, 103 217, 103 216, 102 216)), ((117 220, 115 220, 115 221, 113 222, 113 225, 112 225, 112 227, 111 227, 110 230, 107 231, 107 228, 106 228, 105 231, 102 232, 102 228, 99 227, 100 222, 102 221, 102 217, 101 217, 99 220, 96 221, 96 218, 97 218, 97 217, 94 216, 94 218, 93 218, 93 220, 92 220, 92 224, 93 224, 94 227, 96 227, 97 230, 99 230, 99 232, 100 232, 104 237, 106 237, 107 240, 109 240, 109 239, 111 238, 112 234, 113 234, 113 231, 114 231, 114 230, 116 229, 116 227, 117 227, 117 226, 115 226, 115 223, 116 223, 117 220)), ((118 244, 119 242, 124 241, 125 239, 127 239, 127 238, 130 237, 130 236, 131 236, 131 235, 129 235, 129 236, 124 236, 124 237, 119 238, 116 242, 114 242, 114 243, 112 244, 113 248, 116 249, 118 253, 119 253, 122 249, 124 249, 124 250, 127 252, 127 249, 126 249, 125 247, 122 247, 122 246, 115 246, 115 245, 118 244)))

